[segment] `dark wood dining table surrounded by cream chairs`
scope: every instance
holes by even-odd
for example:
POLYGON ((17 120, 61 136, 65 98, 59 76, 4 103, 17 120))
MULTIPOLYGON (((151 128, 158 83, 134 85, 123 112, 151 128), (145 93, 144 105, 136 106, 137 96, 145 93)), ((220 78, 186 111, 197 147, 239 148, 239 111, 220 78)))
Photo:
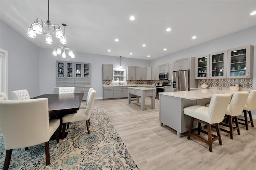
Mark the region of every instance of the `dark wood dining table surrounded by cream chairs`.
MULTIPOLYGON (((82 103, 84 93, 43 94, 31 99, 48 98, 50 119, 60 119, 60 134, 62 134, 62 117, 76 113, 82 103)), ((65 133, 66 137, 67 133, 65 133)), ((53 135, 54 136, 54 135, 53 135)))

